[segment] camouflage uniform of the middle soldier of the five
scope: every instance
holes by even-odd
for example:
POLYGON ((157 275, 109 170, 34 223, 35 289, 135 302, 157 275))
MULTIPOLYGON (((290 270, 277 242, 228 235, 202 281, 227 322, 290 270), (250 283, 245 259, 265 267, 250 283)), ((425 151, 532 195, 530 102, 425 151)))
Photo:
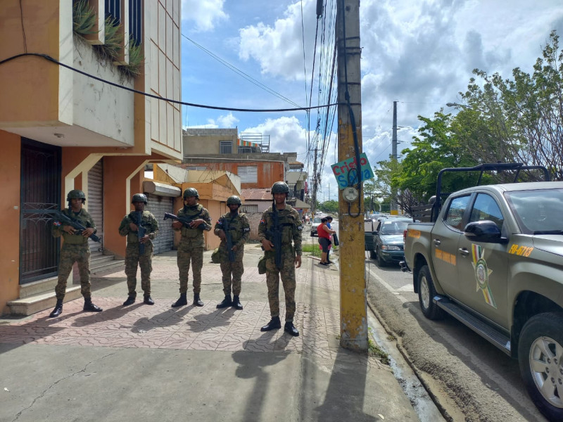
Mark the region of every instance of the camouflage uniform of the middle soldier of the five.
MULTIPOLYGON (((178 211, 178 217, 187 219, 203 219, 206 223, 205 231, 211 230, 211 217, 208 210, 203 205, 197 204, 193 207, 184 206, 178 211)), ((178 270, 180 279, 180 294, 188 291, 189 265, 191 261, 192 275, 194 276, 194 294, 201 292, 201 269, 203 267, 203 248, 205 239, 203 230, 191 229, 182 226, 182 229, 175 229, 182 232, 182 238, 178 245, 178 270)))

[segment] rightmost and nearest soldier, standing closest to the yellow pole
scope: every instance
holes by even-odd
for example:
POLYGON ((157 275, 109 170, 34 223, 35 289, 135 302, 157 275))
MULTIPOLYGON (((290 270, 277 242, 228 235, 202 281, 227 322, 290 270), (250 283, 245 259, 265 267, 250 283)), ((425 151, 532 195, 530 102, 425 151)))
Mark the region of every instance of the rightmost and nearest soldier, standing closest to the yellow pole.
POLYGON ((281 328, 279 321, 279 277, 284 286, 286 297, 286 323, 284 331, 291 335, 299 335, 293 326, 295 314, 295 269, 301 267, 301 231, 303 223, 299 214, 291 205, 286 205, 289 187, 283 181, 277 181, 272 186, 274 202, 262 214, 258 225, 258 239, 265 250, 266 258, 266 284, 268 288, 268 301, 270 302, 270 315, 272 319, 260 328, 260 331, 270 331, 281 328), (275 229, 274 220, 278 220, 278 229, 281 231, 281 263, 276 265, 276 251, 274 250, 275 229), (291 244, 293 242, 293 245, 291 244))

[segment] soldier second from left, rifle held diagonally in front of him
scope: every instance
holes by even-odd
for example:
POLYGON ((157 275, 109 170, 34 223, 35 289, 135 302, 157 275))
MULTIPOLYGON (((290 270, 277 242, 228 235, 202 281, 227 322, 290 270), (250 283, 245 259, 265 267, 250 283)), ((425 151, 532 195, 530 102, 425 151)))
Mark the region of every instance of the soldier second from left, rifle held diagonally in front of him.
POLYGON ((123 217, 119 226, 119 234, 127 236, 127 249, 125 249, 125 274, 127 275, 127 289, 129 296, 123 306, 132 305, 137 298, 137 265, 141 267, 141 288, 144 293, 143 303, 154 305, 151 298, 151 271, 153 270, 153 243, 151 241, 158 234, 158 222, 150 211, 145 210, 146 196, 144 193, 135 193, 132 199, 135 210, 123 217), (139 239, 139 217, 141 227, 145 234, 139 239), (141 244, 143 245, 141 247, 141 244), (141 254, 140 249, 144 249, 141 254))

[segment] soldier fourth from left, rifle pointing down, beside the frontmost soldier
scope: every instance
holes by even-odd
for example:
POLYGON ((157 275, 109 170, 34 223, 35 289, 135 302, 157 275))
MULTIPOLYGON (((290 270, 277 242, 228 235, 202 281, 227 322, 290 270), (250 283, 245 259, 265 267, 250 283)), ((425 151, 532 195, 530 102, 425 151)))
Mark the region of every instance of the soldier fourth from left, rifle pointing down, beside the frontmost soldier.
POLYGON ((223 274, 224 299, 217 305, 219 309, 228 306, 232 306, 235 309, 242 309, 241 300, 239 299, 239 295, 241 294, 242 274, 244 272, 242 258, 244 256, 244 243, 251 237, 251 225, 246 215, 239 214, 239 207, 241 205, 241 198, 238 196, 229 196, 227 199, 227 207, 229 207, 230 212, 221 216, 215 223, 215 230, 213 231, 213 233, 221 238, 219 253, 221 272, 223 274), (234 262, 229 261, 227 231, 231 237, 234 262), (233 293, 232 299, 231 287, 233 293))

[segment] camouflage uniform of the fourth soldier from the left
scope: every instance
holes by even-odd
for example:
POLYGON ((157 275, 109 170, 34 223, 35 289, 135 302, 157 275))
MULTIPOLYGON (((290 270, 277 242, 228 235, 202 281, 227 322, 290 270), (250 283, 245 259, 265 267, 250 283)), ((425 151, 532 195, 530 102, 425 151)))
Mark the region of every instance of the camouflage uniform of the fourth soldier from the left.
POLYGON ((251 225, 245 214, 239 214, 237 212, 233 217, 231 212, 227 212, 215 223, 214 233, 217 236, 219 236, 219 232, 221 230, 226 232, 225 222, 229 224, 229 234, 231 235, 232 245, 236 246, 236 252, 234 252, 234 262, 230 262, 227 242, 221 241, 221 244, 219 245, 219 253, 221 272, 223 274, 223 292, 225 296, 230 296, 232 286, 232 293, 235 296, 238 296, 241 294, 241 281, 242 274, 244 273, 244 266, 242 263, 244 256, 244 243, 246 243, 251 237, 251 225))

